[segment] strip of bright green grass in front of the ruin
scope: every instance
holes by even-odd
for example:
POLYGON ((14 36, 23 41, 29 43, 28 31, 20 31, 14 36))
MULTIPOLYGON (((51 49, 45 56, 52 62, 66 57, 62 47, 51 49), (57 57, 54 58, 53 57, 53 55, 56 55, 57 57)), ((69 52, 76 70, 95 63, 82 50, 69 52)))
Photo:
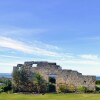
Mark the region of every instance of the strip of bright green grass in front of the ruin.
POLYGON ((100 100, 100 94, 0 94, 0 100, 100 100))

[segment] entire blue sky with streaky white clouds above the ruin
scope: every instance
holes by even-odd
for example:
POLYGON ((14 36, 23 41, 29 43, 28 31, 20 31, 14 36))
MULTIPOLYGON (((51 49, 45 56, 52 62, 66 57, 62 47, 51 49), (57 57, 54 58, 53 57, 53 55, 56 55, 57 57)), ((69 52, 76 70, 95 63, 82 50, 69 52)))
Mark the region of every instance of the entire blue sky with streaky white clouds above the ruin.
POLYGON ((0 73, 25 61, 100 76, 100 0, 0 0, 0 73))

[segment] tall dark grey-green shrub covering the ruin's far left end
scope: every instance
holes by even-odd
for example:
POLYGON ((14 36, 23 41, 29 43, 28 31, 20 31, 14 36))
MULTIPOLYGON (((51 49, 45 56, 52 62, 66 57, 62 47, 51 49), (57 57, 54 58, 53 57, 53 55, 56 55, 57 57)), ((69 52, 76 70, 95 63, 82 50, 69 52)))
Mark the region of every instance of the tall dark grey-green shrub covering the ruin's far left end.
POLYGON ((13 72, 13 91, 31 91, 30 80, 28 78, 27 70, 21 68, 13 72))

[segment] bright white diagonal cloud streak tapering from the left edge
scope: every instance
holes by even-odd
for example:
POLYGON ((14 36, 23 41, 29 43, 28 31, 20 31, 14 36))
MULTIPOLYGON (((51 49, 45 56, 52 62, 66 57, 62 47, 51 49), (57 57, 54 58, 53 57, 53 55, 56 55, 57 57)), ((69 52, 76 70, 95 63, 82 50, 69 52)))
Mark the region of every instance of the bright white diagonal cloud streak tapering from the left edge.
POLYGON ((38 54, 38 55, 44 55, 44 56, 59 56, 58 53, 53 51, 48 51, 42 48, 39 48, 38 46, 32 46, 29 44, 26 44, 24 42, 20 42, 17 40, 13 40, 11 38, 6 37, 0 37, 0 47, 10 48, 17 51, 21 51, 24 53, 29 54, 38 54))

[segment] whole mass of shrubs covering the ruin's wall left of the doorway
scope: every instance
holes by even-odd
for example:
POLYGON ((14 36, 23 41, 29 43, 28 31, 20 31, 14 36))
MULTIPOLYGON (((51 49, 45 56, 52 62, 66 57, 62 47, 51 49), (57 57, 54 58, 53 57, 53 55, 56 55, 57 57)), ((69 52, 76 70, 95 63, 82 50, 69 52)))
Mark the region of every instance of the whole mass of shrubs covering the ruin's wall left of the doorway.
POLYGON ((13 91, 14 92, 45 92, 47 89, 46 81, 39 73, 29 73, 24 68, 13 72, 13 91))

